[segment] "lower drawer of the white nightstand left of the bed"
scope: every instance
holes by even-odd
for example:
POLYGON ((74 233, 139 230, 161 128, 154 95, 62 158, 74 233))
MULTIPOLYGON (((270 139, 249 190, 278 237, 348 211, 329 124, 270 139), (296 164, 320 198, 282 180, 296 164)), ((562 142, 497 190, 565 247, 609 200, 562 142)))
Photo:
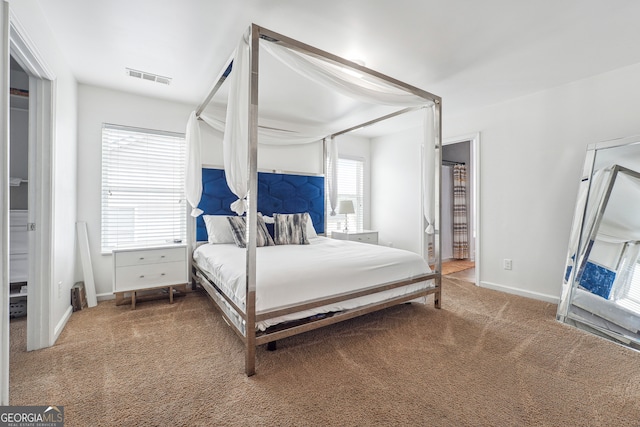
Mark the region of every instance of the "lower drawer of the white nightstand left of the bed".
POLYGON ((184 261, 117 267, 115 269, 114 292, 186 283, 185 273, 184 261))

